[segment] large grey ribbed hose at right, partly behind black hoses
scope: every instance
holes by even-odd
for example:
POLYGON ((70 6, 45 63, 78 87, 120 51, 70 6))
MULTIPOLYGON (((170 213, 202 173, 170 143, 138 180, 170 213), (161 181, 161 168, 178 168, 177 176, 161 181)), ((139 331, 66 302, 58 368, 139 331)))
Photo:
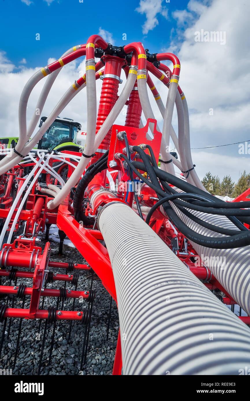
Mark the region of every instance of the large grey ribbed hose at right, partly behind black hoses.
MULTIPOLYGON (((181 192, 178 188, 175 188, 181 192)), ((186 217, 176 206, 172 207, 180 219, 195 232, 208 237, 225 237, 225 235, 214 233, 213 231, 201 227, 193 220, 186 217)), ((199 219, 210 224, 227 229, 237 230, 225 216, 210 215, 198 211, 187 209, 199 219)), ((197 245, 189 241, 194 249, 200 255, 204 262, 223 288, 232 296, 232 298, 250 315, 250 245, 234 249, 211 249, 197 245)), ((199 263, 199 261, 197 261, 199 263)))

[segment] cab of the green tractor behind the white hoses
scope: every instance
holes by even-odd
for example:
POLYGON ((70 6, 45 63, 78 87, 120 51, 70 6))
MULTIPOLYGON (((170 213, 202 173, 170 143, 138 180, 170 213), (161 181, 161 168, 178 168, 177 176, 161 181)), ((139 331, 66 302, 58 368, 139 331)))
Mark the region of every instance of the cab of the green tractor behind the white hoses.
MULTIPOLYGON (((39 127, 43 125, 47 117, 41 117, 39 127)), ((41 150, 72 150, 78 152, 77 133, 82 128, 81 124, 70 118, 57 117, 47 129, 43 138, 38 142, 41 150)))

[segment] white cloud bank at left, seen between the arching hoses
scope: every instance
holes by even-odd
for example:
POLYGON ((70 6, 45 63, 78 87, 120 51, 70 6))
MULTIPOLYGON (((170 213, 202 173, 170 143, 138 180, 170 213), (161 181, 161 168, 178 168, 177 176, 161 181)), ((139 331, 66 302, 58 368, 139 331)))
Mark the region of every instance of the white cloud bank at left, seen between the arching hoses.
MULTIPOLYGON (((18 103, 23 87, 35 71, 39 70, 43 65, 52 63, 53 61, 55 61, 55 58, 49 58, 48 60, 43 60, 41 66, 35 68, 27 68, 26 66, 23 66, 20 70, 7 59, 4 53, 0 53, 0 137, 18 136, 18 103)), ((60 71, 51 91, 49 92, 41 116, 48 116, 66 90, 84 73, 85 58, 82 58, 79 61, 73 61, 66 65, 60 71)), ((123 79, 123 83, 119 85, 119 93, 125 84, 124 72, 122 72, 121 78, 123 79)), ((45 79, 46 78, 42 79, 31 92, 27 105, 27 126, 29 125, 33 115, 45 79)), ((98 81, 96 81, 97 101, 100 99, 101 85, 102 81, 98 79, 98 81)), ((75 121, 82 124, 82 130, 85 131, 87 122, 86 111, 86 89, 82 89, 82 91, 80 91, 80 93, 78 93, 61 112, 60 116, 73 118, 75 121)), ((122 113, 117 118, 117 124, 125 124, 125 115, 122 113)), ((37 130, 38 127, 34 132, 36 133, 37 130)))

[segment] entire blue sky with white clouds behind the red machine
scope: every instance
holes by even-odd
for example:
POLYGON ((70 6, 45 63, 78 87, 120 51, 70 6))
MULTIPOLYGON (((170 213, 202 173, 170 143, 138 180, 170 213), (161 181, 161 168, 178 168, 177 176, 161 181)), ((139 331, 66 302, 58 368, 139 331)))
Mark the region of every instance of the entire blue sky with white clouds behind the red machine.
MULTIPOLYGON (((5 16, 0 24, 0 136, 18 135, 18 101, 29 77, 70 47, 84 44, 91 34, 99 33, 114 45, 141 41, 152 53, 170 51, 178 55, 180 87, 189 106, 191 148, 250 139, 249 0, 128 0, 110 1, 107 6, 96 0, 91 7, 85 0, 80 1, 0 2, 0 12, 5 16), (225 43, 195 41, 196 32, 204 30, 224 32, 225 43)), ((82 58, 62 69, 43 115, 49 115, 84 68, 82 58)), ((166 87, 153 81, 166 104, 166 87)), ((43 82, 36 85, 29 99, 28 123, 40 84, 43 82)), ((119 85, 119 93, 123 84, 119 85)), ((97 82, 97 99, 100 85, 97 82)), ((149 97, 161 128, 162 117, 151 93, 149 97)), ((86 92, 81 91, 62 116, 74 118, 85 130, 86 92)), ((124 124, 124 116, 121 114, 117 123, 124 124)), ((176 111, 172 124, 177 132, 176 111)), ((210 170, 221 177, 230 173, 238 180, 244 169, 250 172, 250 149, 248 154, 239 154, 238 144, 196 149, 192 154, 200 177, 210 170)))

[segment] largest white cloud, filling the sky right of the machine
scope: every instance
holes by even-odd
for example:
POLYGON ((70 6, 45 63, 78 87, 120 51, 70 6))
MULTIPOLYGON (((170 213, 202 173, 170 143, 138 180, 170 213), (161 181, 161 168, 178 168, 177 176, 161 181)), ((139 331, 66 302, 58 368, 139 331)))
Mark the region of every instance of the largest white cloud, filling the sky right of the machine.
MULTIPOLYGON (((185 16, 186 21, 189 18, 180 40, 174 39, 166 51, 177 49, 180 59, 180 87, 189 106, 192 148, 250 139, 249 13, 250 3, 242 0, 191 0, 187 11, 174 14, 179 24, 185 16), (202 29, 225 32, 225 45, 195 42, 195 32, 202 29)), ((177 128, 176 113, 173 125, 177 128)), ((250 172, 250 156, 240 156, 238 145, 192 154, 200 177, 209 169, 220 176, 232 174, 234 180, 239 178, 238 170, 250 172)))

